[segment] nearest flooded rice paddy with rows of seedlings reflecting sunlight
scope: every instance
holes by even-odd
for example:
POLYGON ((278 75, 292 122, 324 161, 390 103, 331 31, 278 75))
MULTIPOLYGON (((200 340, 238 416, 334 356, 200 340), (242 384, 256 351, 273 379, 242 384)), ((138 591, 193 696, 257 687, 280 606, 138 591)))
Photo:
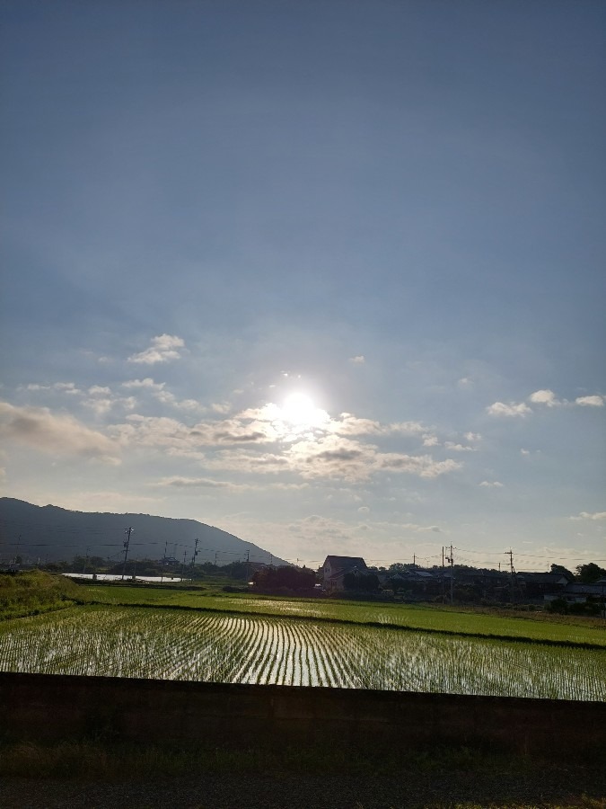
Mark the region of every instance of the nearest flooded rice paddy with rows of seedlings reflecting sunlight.
POLYGON ((606 700, 606 650, 166 609, 7 621, 0 670, 606 700))

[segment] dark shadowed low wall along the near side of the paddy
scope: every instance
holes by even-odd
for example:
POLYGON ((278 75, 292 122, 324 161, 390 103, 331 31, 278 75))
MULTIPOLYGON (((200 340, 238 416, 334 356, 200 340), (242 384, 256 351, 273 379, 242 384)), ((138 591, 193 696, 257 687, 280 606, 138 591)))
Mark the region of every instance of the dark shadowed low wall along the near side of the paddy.
POLYGON ((606 753, 606 703, 0 673, 0 741, 465 745, 550 760, 606 753))

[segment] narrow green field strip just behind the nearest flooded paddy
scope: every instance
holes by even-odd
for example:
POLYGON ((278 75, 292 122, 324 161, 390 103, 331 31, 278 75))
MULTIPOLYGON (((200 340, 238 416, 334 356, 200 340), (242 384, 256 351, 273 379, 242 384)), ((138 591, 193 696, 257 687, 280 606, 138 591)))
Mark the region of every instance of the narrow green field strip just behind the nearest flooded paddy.
POLYGON ((496 612, 442 605, 274 598, 241 593, 227 595, 204 589, 179 591, 154 590, 154 586, 80 586, 88 603, 312 618, 316 621, 364 624, 369 627, 606 648, 606 621, 602 618, 550 616, 543 612, 505 614, 504 610, 496 612))

